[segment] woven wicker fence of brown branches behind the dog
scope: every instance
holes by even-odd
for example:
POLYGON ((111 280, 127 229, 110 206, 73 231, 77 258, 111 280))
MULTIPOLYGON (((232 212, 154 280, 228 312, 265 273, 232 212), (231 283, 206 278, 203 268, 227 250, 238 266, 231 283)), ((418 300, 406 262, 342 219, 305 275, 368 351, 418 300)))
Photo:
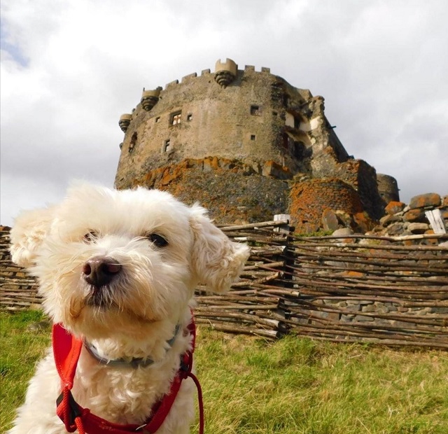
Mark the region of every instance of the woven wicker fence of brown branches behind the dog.
MULTIPOLYGON (((437 245, 447 235, 304 238, 289 232, 288 221, 221 229, 248 243, 251 257, 229 293, 197 289, 197 323, 272 339, 295 333, 448 349, 448 248, 437 245), (435 244, 412 244, 426 238, 435 244)), ((6 247, 1 307, 35 307, 36 283, 10 262, 6 247)))

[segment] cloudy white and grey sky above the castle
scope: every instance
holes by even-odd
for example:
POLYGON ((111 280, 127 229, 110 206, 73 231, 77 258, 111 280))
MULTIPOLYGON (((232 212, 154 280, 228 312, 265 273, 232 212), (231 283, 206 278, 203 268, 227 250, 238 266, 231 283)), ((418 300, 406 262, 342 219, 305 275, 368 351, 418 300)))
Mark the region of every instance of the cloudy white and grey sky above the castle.
POLYGON ((1 0, 1 217, 113 186, 143 87, 217 59, 325 97, 349 154, 404 202, 448 194, 446 0, 1 0))

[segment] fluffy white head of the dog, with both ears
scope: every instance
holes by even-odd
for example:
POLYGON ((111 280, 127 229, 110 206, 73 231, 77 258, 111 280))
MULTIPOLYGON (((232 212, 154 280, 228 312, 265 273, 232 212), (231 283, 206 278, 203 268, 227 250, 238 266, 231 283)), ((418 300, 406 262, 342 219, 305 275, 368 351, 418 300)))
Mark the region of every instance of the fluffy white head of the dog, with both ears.
POLYGON ((144 188, 75 186, 61 204, 19 216, 10 237, 47 313, 92 337, 176 323, 198 282, 228 290, 248 257, 201 207, 144 188))

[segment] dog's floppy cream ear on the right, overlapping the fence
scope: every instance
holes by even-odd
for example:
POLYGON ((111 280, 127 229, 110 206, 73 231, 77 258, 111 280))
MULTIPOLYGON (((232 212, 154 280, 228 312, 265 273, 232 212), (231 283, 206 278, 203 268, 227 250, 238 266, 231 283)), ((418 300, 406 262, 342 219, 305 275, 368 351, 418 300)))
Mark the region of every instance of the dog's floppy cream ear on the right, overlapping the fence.
POLYGON ((250 248, 230 241, 198 205, 191 207, 190 225, 195 237, 192 265, 197 280, 217 293, 229 290, 237 281, 250 248))

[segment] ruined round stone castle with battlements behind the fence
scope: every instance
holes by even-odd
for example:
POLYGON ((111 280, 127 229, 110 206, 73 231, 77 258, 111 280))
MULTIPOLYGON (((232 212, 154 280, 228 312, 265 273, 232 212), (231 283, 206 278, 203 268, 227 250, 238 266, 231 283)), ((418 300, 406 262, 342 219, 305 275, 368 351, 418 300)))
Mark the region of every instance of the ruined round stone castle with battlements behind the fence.
POLYGON ((323 97, 269 68, 218 60, 214 73, 144 89, 119 125, 116 188, 168 190, 218 223, 287 213, 299 232, 314 232, 330 213, 365 231, 399 200, 395 179, 346 152, 323 97))

